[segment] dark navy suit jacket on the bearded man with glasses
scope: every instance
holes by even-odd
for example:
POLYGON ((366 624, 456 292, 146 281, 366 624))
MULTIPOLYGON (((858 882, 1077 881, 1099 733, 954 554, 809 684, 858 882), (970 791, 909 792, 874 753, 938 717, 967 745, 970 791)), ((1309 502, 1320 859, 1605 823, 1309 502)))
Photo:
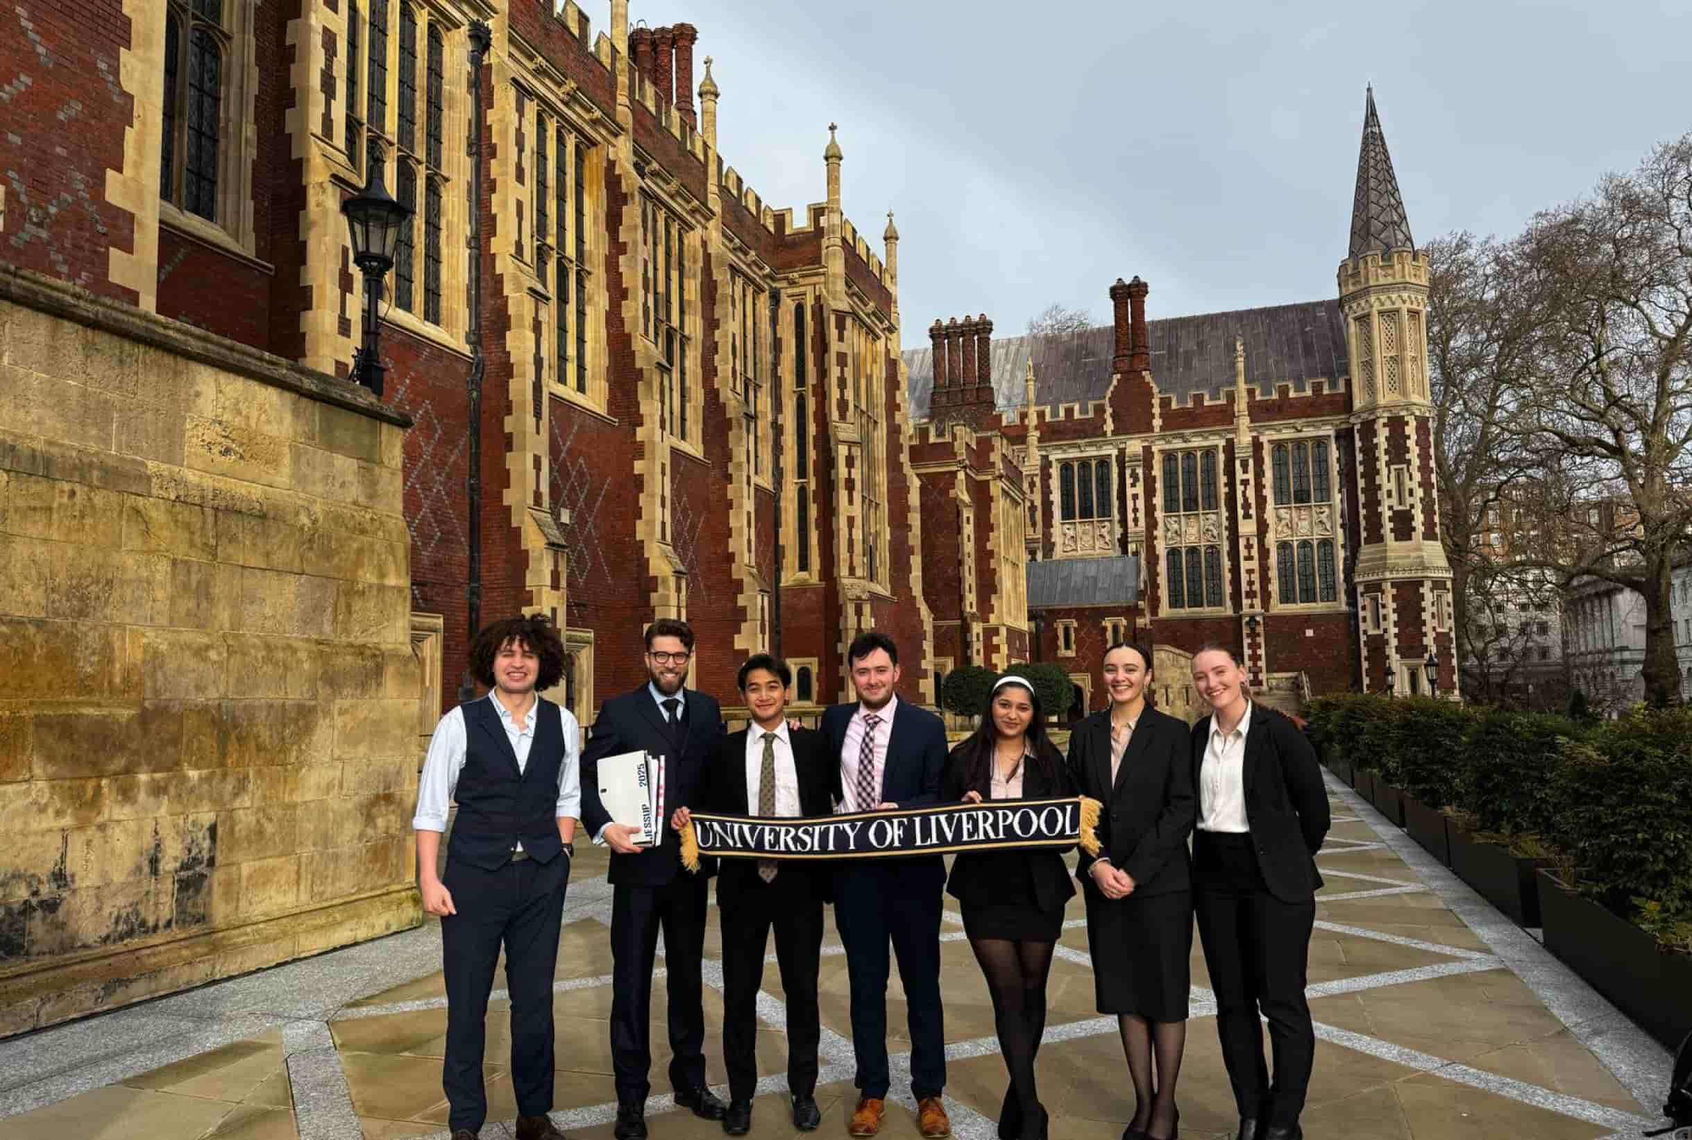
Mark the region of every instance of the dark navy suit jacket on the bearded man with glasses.
MULTIPOLYGON (((692 807, 699 802, 706 770, 716 758, 717 741, 722 739, 722 709, 717 707, 716 697, 692 688, 685 692, 680 749, 672 741, 663 712, 646 685, 631 693, 611 697, 599 705, 599 715, 594 717, 594 734, 587 741, 587 748, 582 749, 582 825, 589 836, 597 836, 599 829, 611 822, 599 802, 601 759, 646 751, 663 756, 665 765, 665 819, 660 822, 663 841, 640 854, 626 856, 613 851, 611 869, 606 873, 611 883, 663 886, 682 869, 682 841, 670 830, 670 815, 678 807, 692 807)), ((714 861, 704 861, 699 873, 711 874, 714 869, 714 861)))

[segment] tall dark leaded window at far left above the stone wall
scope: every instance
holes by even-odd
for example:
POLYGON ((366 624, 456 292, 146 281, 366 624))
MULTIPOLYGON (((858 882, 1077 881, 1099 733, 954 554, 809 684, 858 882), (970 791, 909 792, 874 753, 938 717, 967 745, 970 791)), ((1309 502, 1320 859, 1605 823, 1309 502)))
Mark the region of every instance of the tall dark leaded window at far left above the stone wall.
POLYGON ((232 37, 223 0, 171 0, 164 17, 164 139, 159 196, 218 218, 218 144, 232 37))

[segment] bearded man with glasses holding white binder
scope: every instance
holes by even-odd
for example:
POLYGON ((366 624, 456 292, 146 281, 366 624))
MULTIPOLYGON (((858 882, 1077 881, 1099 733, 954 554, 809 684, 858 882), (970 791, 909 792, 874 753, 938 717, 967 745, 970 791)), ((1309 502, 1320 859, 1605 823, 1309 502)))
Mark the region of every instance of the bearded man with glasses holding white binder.
POLYGON ((675 1103, 704 1120, 722 1120, 726 1104, 706 1088, 706 1013, 700 959, 706 942, 709 864, 682 869, 680 839, 668 827, 658 846, 629 842, 634 830, 616 824, 599 800, 599 761, 623 753, 663 758, 667 805, 700 798, 707 766, 722 737, 722 712, 706 693, 685 687, 694 631, 660 617, 646 628, 648 682, 599 709, 582 753, 582 824, 596 844, 611 847, 611 1066, 616 1074, 616 1140, 645 1140, 645 1103, 651 1091, 651 969, 663 929, 665 988, 670 995, 670 1084, 675 1103))

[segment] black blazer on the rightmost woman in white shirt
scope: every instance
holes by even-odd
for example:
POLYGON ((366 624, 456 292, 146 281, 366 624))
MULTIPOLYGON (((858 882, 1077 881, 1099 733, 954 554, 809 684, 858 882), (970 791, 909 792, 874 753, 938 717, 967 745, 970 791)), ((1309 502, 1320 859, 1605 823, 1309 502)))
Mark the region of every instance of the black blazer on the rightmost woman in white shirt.
MULTIPOLYGON (((1193 786, 1198 786, 1210 717, 1193 726, 1193 786)), ((1316 852, 1328 834, 1328 788, 1316 749, 1281 712, 1252 702, 1245 731, 1245 822, 1269 893, 1308 903, 1321 886, 1316 852)))

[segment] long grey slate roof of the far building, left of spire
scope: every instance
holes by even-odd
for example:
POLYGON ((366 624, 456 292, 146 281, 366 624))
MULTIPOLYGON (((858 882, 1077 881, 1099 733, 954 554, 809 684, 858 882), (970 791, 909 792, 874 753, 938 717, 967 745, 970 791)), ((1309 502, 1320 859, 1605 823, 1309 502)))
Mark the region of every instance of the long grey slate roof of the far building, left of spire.
MULTIPOLYGON (((1171 316, 1145 323, 1157 389, 1186 403, 1193 392, 1220 401, 1233 389, 1233 337, 1245 338, 1245 382, 1262 396, 1276 384, 1308 392, 1311 381, 1335 381, 1350 372, 1345 316, 1340 303, 1305 301, 1232 313, 1171 316)), ((1000 411, 1025 403, 1024 374, 1034 362, 1034 401, 1044 408, 1103 399, 1110 389, 1113 338, 1110 325, 1049 337, 995 337, 992 352, 993 403, 1000 411)), ((934 350, 904 355, 910 414, 926 419, 934 391, 934 350)))

